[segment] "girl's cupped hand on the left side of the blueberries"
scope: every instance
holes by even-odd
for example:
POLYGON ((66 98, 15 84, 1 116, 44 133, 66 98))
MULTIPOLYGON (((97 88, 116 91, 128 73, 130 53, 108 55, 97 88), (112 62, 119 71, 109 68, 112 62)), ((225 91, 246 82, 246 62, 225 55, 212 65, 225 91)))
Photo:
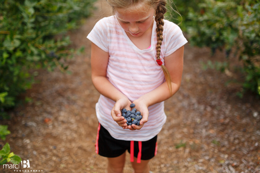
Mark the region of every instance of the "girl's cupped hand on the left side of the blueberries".
POLYGON ((127 110, 131 110, 130 108, 131 101, 127 97, 122 97, 116 101, 116 104, 114 105, 111 116, 118 123, 119 126, 121 126, 123 129, 125 129, 125 126, 127 126, 127 120, 121 115, 121 110, 123 108, 126 108, 127 110))

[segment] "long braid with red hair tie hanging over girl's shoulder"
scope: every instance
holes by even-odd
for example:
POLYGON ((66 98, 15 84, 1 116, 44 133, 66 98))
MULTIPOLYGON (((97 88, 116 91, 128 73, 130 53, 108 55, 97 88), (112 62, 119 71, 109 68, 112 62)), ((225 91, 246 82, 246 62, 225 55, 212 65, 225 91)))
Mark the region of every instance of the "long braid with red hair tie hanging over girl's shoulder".
MULTIPOLYGON (((163 40, 163 30, 164 30, 164 20, 163 19, 164 19, 164 14, 167 11, 165 5, 166 5, 166 1, 161 0, 161 2, 157 6, 156 12, 155 12, 156 33, 157 33, 156 57, 157 57, 158 61, 160 61, 161 43, 163 40)), ((158 61, 157 61, 157 63, 158 63, 158 61)), ((166 82, 168 84, 170 94, 172 95, 172 83, 171 83, 170 73, 164 65, 161 65, 161 68, 164 72, 164 76, 165 76, 166 82)))

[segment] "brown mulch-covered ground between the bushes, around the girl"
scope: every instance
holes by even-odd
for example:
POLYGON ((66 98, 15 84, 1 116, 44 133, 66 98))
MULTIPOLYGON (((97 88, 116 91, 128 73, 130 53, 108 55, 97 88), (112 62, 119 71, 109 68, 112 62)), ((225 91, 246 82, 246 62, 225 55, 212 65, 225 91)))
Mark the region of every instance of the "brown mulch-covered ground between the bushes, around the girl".
MULTIPOLYGON (((12 152, 30 161, 30 168, 0 168, 1 173, 106 172, 107 160, 94 147, 100 94, 92 85, 91 42, 86 38, 101 12, 110 11, 96 10, 82 27, 68 33, 74 48, 85 47, 83 54, 66 62, 72 74, 39 71, 39 83, 23 96, 32 101, 1 122, 11 134, 0 140, 0 148, 8 142, 12 152)), ((260 172, 259 99, 251 93, 236 95, 241 85, 228 81, 239 80, 237 71, 202 68, 202 62, 223 57, 220 51, 212 56, 208 48, 185 45, 181 88, 165 101, 167 122, 158 134, 158 153, 149 163, 154 173, 260 172)), ((126 173, 132 172, 129 157, 127 153, 126 173)))

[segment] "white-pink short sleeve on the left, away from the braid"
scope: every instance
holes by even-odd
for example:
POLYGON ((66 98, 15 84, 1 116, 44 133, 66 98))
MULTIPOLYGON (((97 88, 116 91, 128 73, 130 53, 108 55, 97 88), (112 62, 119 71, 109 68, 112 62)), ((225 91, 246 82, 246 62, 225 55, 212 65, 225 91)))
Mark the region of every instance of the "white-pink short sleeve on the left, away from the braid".
POLYGON ((105 18, 99 20, 94 28, 90 31, 87 38, 99 48, 108 52, 107 29, 105 18))

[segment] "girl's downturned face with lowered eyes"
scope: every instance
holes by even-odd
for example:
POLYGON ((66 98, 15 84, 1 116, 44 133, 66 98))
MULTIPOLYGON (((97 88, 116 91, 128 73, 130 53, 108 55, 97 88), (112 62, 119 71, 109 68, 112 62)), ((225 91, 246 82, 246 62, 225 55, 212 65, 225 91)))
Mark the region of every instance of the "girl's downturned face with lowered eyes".
POLYGON ((134 11, 116 8, 115 15, 121 27, 133 37, 139 37, 149 27, 153 27, 154 9, 152 7, 141 7, 134 11))

